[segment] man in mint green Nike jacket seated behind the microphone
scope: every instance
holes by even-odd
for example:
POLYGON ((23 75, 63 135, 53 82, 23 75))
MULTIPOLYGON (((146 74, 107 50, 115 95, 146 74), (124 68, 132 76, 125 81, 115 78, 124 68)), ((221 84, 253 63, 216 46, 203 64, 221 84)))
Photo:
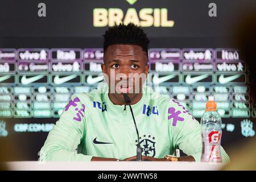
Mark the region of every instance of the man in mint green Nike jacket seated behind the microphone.
MULTIPOLYGON (((120 24, 105 32, 101 68, 106 83, 71 97, 49 132, 40 160, 136 160, 139 142, 142 160, 200 161, 199 122, 179 102, 144 85, 148 43, 146 34, 134 24, 120 24), (138 137, 123 93, 130 99, 138 137), (187 156, 164 158, 177 147, 187 156)), ((223 162, 229 161, 222 147, 221 155, 223 162)))

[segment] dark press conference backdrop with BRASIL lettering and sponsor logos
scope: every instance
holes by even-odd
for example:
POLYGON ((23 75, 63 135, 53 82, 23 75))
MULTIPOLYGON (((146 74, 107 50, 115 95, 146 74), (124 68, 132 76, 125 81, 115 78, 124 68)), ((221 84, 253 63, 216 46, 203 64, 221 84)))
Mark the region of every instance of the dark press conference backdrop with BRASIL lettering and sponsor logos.
POLYGON ((15 145, 13 160, 38 159, 72 94, 90 92, 103 81, 102 34, 113 23, 110 14, 122 11, 121 19, 138 16, 151 40, 147 84, 175 98, 198 121, 213 95, 222 117, 221 143, 229 152, 255 137, 250 71, 226 39, 237 26, 237 12, 249 2, 216 1, 217 17, 210 18, 210 1, 45 1, 47 15, 40 18, 40 1, 2 1, 0 140, 15 145), (109 14, 104 22, 102 13, 109 14))

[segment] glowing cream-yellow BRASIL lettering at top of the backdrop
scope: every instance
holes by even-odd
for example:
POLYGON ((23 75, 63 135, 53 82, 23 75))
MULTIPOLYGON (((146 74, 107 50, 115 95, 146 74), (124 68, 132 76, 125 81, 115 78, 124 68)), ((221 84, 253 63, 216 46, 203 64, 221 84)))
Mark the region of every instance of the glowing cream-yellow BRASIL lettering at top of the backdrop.
MULTIPOLYGON (((133 5, 136 1, 127 1, 133 5)), ((136 10, 129 8, 124 13, 122 9, 118 8, 96 8, 93 9, 93 26, 106 27, 114 26, 115 24, 129 24, 134 23, 141 27, 173 27, 174 20, 168 20, 168 10, 166 8, 144 8, 136 10)))

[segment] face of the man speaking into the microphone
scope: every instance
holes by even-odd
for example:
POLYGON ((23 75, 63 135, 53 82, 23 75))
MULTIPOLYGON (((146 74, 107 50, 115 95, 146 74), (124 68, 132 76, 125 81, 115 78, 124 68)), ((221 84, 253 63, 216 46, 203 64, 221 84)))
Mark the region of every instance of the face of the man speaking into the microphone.
POLYGON ((123 103, 122 93, 127 93, 131 101, 142 94, 148 73, 147 61, 147 53, 140 46, 114 44, 106 49, 101 69, 115 101, 123 103))

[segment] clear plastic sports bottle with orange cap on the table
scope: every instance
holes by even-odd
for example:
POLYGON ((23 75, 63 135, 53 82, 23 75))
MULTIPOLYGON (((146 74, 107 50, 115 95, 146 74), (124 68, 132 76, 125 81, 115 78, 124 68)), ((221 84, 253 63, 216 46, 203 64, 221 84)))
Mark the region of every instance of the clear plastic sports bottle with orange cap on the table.
POLYGON ((222 162, 221 158, 221 117, 216 110, 214 97, 209 96, 205 113, 201 118, 203 148, 201 162, 222 162))

